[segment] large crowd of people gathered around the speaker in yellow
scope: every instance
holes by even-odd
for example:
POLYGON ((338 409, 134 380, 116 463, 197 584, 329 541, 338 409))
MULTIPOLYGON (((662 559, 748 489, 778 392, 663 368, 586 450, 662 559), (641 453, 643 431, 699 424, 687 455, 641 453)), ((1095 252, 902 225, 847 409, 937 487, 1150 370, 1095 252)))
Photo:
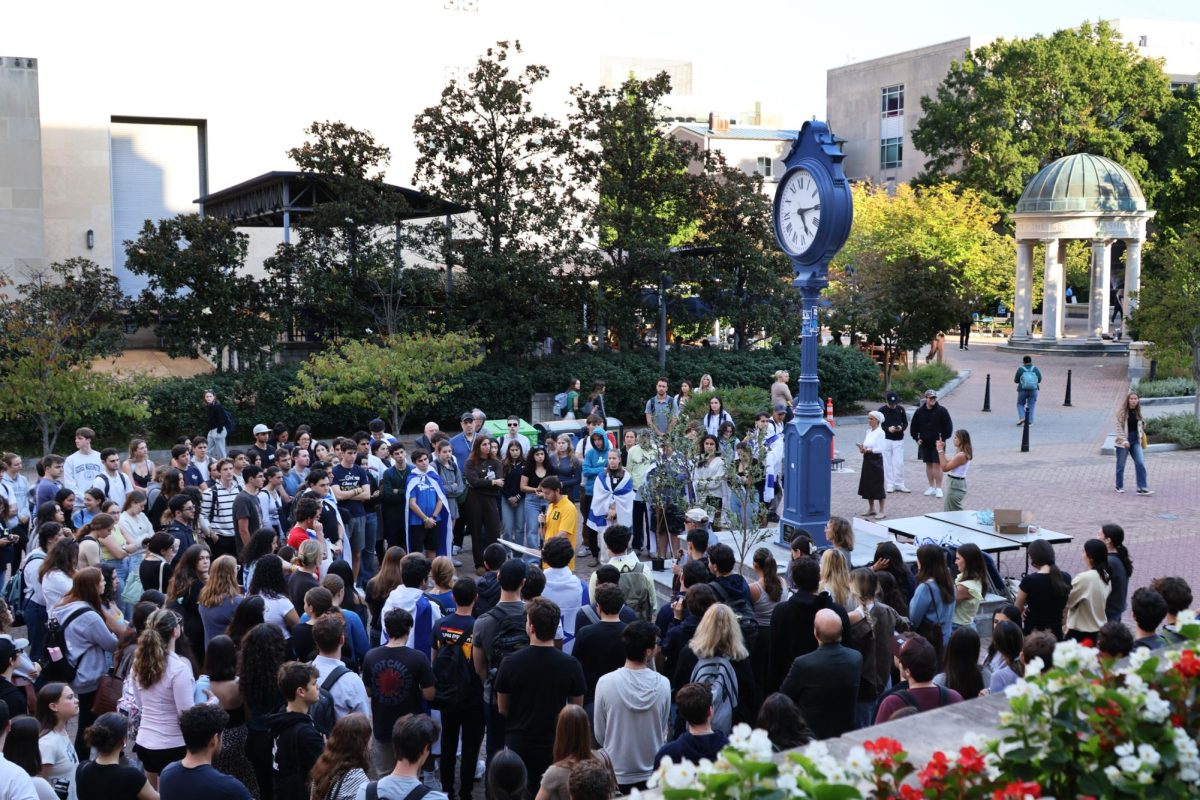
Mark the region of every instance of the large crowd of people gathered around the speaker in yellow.
MULTIPOLYGON (((1133 593, 1135 630, 1122 625, 1133 563, 1115 524, 1074 577, 1030 547, 986 654, 976 616, 995 582, 971 545, 924 545, 911 569, 886 542, 858 564, 834 517, 828 546, 798 535, 782 570, 755 551, 748 581, 713 531, 721 506, 704 500, 728 495, 712 462, 767 461, 769 504, 790 393, 758 415, 756 449, 713 398, 672 515, 680 552, 647 527, 641 495, 683 407, 665 380, 648 429, 620 443, 599 413, 577 440, 533 443, 517 417, 484 433, 475 410, 412 449, 374 420, 331 443, 258 425, 253 445, 226 450, 232 417, 205 401, 214 429, 166 464, 142 440, 124 459, 97 452, 89 428, 32 485, 2 457, 0 628, 19 615, 28 638, 0 638, 0 798, 467 800, 482 781, 493 800, 600 800, 646 787, 665 758, 714 758, 738 723, 785 750, 1002 691, 1063 637, 1111 655, 1164 646, 1192 603, 1160 578, 1133 593), (677 557, 666 602, 646 551, 677 557)), ((929 453, 947 464, 938 408, 931 396, 911 433, 931 488, 929 453)), ((863 450, 883 462, 886 497, 907 491, 884 468, 908 423, 890 397, 880 416, 887 438, 863 450)), ((966 433, 953 441, 968 462, 966 433)))

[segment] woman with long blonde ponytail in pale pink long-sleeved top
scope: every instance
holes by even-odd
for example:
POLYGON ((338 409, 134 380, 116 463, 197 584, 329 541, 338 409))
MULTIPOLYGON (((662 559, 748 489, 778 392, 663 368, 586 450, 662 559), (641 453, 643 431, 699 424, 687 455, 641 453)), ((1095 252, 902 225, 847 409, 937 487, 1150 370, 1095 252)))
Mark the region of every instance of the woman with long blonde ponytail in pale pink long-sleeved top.
POLYGON ((196 679, 192 664, 175 644, 184 633, 175 612, 160 608, 150 614, 133 654, 133 681, 142 724, 133 750, 145 769, 150 786, 158 788, 158 774, 187 754, 179 715, 194 705, 196 679))

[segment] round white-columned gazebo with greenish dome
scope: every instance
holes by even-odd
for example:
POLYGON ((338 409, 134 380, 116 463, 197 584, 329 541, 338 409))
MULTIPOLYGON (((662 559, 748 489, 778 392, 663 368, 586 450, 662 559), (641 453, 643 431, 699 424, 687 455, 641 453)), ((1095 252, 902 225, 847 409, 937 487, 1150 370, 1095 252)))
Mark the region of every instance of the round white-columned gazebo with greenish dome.
POLYGON ((1138 181, 1120 164, 1079 154, 1046 164, 1025 187, 1010 215, 1016 223, 1016 302, 1013 306, 1013 344, 1034 343, 1033 247, 1045 245, 1045 289, 1042 301, 1043 347, 1063 338, 1067 241, 1092 243, 1087 305, 1088 343, 1098 344, 1109 331, 1109 288, 1112 242, 1126 245, 1126 313, 1133 311, 1141 285, 1141 245, 1146 223, 1154 216, 1138 181))

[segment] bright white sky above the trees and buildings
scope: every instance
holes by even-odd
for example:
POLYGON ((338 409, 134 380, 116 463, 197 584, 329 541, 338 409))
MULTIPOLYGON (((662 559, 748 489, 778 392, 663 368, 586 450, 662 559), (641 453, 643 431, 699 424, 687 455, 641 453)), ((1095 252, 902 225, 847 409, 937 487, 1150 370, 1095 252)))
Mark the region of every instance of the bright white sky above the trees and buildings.
POLYGON ((212 188, 289 168, 283 152, 313 119, 374 131, 394 150, 390 178, 407 182, 414 115, 437 102, 448 67, 500 38, 550 67, 535 98, 550 113, 565 113, 571 85, 595 86, 606 58, 666 59, 692 64, 694 104, 728 113, 760 101, 798 127, 824 115, 832 67, 1115 17, 1200 23, 1200 2, 41 0, 7 4, 0 55, 38 59, 43 127, 209 119, 212 188))

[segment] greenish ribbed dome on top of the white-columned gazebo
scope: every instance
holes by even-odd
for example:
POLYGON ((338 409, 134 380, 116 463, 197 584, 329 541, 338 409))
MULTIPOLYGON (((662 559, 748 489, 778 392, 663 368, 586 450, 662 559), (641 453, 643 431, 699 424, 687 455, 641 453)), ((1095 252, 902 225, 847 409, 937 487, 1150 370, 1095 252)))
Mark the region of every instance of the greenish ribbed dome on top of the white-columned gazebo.
POLYGON ((1124 167, 1086 152, 1058 158, 1033 176, 1021 211, 1145 211, 1146 197, 1124 167))

